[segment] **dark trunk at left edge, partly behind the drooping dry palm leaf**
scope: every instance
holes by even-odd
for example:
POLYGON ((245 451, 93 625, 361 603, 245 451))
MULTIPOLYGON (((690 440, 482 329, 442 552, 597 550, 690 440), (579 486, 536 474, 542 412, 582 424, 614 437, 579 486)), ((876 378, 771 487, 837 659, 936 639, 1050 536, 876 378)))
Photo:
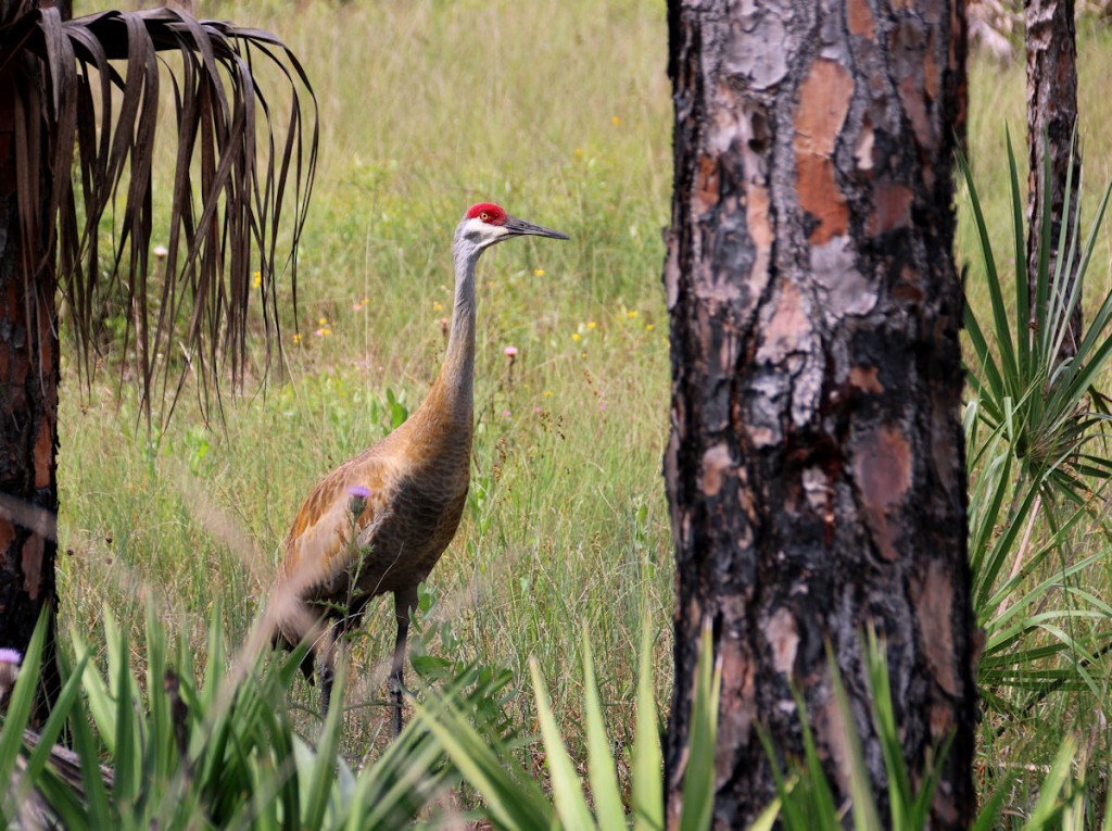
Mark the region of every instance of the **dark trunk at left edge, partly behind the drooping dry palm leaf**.
MULTIPOLYGON (((19 6, 0 1, 0 22, 10 21, 19 6)), ((12 63, 20 60, 26 58, 16 56, 12 63)), ((14 132, 18 82, 10 68, 0 70, 0 646, 24 651, 40 614, 48 610, 50 629, 34 716, 39 722, 59 683, 53 642, 60 368, 57 279, 44 224, 39 222, 31 250, 21 235, 17 201, 21 171, 14 132)), ((33 91, 22 92, 33 100, 33 91)), ((38 132, 46 142, 41 128, 38 132)), ((43 158, 49 158, 46 152, 43 158)), ((50 198, 50 182, 49 171, 38 171, 34 185, 44 202, 50 198)))

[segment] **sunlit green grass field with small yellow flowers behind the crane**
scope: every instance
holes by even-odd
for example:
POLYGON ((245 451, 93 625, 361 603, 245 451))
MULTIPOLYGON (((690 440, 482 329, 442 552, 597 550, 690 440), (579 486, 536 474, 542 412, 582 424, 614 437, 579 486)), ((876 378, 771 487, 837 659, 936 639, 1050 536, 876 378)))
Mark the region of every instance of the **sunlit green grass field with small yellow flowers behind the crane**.
MULTIPOLYGON (((536 655, 577 740, 586 627, 623 746, 643 615, 657 633, 664 706, 671 674, 663 4, 258 0, 201 11, 277 32, 302 59, 320 106, 298 317, 289 310, 284 321, 286 372, 227 399, 222 425, 206 425, 183 402, 153 442, 131 384, 117 390, 115 362, 88 393, 69 373, 59 421, 61 625, 89 632, 107 605, 138 632, 149 602, 201 652, 219 604, 230 631, 245 634, 300 501, 428 388, 450 313, 451 233, 469 204, 490 199, 572 240, 519 240, 480 263, 471 495, 426 587, 415 653, 523 677, 536 655)), ((1112 175, 1103 129, 1112 50, 1108 32, 1082 28, 1091 201, 1112 175)), ((976 60, 970 90, 970 154, 990 224, 1006 240, 1003 133, 1006 123, 1022 145, 1023 67, 976 60)), ((974 258, 967 222, 959 256, 974 258)), ((1105 250, 1090 297, 1109 289, 1108 261, 1105 250)), ((969 280, 979 304, 975 268, 969 280)), ((1101 580, 1091 588, 1106 594, 1106 570, 1101 580)), ((347 700, 355 758, 387 715, 364 704, 384 694, 389 601, 371 609, 365 632, 347 700)), ((316 706, 307 686, 292 695, 316 706)), ((515 706, 532 729, 526 702, 515 706)), ((1069 731, 1088 741, 1091 759, 1108 759, 1091 698, 1063 694, 1025 721, 986 721, 985 782, 1014 780, 1022 801, 1069 731)))

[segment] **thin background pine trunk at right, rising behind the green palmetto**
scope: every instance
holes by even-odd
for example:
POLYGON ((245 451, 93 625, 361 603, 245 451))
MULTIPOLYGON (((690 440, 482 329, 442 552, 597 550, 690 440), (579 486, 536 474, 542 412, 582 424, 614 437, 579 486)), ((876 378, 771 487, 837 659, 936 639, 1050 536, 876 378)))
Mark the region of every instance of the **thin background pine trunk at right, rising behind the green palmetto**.
MULTIPOLYGON (((1035 275, 1039 268, 1040 217, 1043 199, 1050 195, 1050 274, 1060 257, 1073 245, 1081 184, 1081 147, 1073 146, 1078 127, 1078 32, 1073 0, 1026 0, 1024 42, 1027 52, 1027 156, 1031 164, 1027 190, 1027 285, 1034 319, 1035 275), (1045 144, 1044 144, 1045 142, 1045 144), (1071 157, 1072 149, 1072 157, 1071 157), (1046 156, 1050 178, 1046 178, 1046 156), (1065 178, 1073 166, 1073 189, 1065 204, 1065 178), (1059 250, 1062 222, 1066 226, 1065 247, 1059 250)), ((1072 287, 1079 253, 1062 264, 1072 287)), ((1072 290, 1072 288, 1068 289, 1072 290)), ((1062 340, 1060 359, 1072 357, 1081 339, 1081 303, 1070 317, 1069 334, 1062 340)))

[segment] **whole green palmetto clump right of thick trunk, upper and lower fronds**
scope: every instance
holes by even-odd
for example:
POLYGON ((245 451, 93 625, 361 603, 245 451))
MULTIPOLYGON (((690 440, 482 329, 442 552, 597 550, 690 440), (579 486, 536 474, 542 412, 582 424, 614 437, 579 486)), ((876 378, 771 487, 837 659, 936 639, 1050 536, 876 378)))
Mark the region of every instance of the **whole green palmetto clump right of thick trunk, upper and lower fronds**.
MULTIPOLYGON (((1090 591, 1085 578, 1106 560, 1106 552, 1083 552, 1082 522, 1109 534, 1103 506, 1112 484, 1110 417, 1095 383, 1112 360, 1112 295, 1092 315, 1075 354, 1063 358, 1061 347, 1081 300, 1112 186, 1086 236, 1076 212, 1062 221, 1060 256, 1052 265, 1049 194, 1036 227, 1025 229, 1010 140, 1007 159, 1014 275, 997 267, 972 172, 964 158, 959 157, 959 165, 991 306, 991 315, 982 318, 969 304, 965 308, 974 353, 967 367, 973 397, 964 419, 971 591, 977 625, 985 633, 977 673, 986 704, 1015 714, 1059 690, 1086 690, 1095 700, 1108 701, 1096 667, 1112 636, 1112 605, 1090 591), (1035 234, 1039 243, 1033 293, 1025 231, 1035 234), (1009 279, 1014 280, 1011 300, 1009 279), (1020 700, 1012 701, 1009 691, 1020 700)), ((1079 185, 1072 165, 1069 170, 1066 202, 1079 185)))

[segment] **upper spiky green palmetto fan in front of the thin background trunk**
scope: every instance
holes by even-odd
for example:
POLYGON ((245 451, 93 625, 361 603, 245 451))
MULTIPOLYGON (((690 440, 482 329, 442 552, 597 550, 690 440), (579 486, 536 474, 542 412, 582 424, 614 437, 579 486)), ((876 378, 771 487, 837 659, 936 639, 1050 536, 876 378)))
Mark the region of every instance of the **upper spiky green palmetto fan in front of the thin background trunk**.
MULTIPOLYGON (((1023 200, 1011 139, 1007 141, 1012 207, 1012 258, 1015 263, 1014 300, 1010 310, 1005 275, 997 268, 989 229, 965 158, 959 167, 965 178, 973 222, 981 244, 985 285, 992 306, 991 320, 982 325, 973 308, 965 306, 965 328, 975 360, 969 382, 977 399, 977 414, 990 429, 1003 429, 1022 474, 1035 483, 1043 497, 1066 498, 1084 504, 1092 496, 1086 477, 1112 477, 1112 462, 1104 453, 1088 449, 1102 438, 1100 429, 1110 417, 1103 397, 1093 384, 1112 359, 1112 295, 1093 315, 1076 354, 1059 359, 1073 310, 1081 301, 1081 286, 1092 260, 1104 220, 1112 186, 1105 189, 1089 235, 1081 237, 1080 216, 1063 221, 1059 234, 1060 256, 1051 268, 1052 216, 1049 197, 1039 216, 1039 271, 1035 296, 1027 290, 1026 243, 1023 200), (1066 264, 1076 264, 1073 274, 1066 264), (1030 321, 1030 323, 1029 323, 1030 321)), ((1049 172, 1048 172, 1049 175, 1049 172)), ((1078 187, 1071 176, 1065 199, 1078 187)), ((1033 231, 1034 233, 1034 231, 1033 231)))

